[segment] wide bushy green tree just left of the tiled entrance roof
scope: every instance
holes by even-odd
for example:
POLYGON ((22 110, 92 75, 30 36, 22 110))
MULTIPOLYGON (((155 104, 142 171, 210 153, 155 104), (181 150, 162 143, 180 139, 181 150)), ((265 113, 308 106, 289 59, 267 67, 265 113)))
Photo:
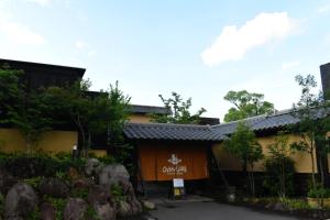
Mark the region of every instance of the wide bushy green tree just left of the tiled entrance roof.
POLYGON ((84 155, 91 147, 94 135, 108 132, 109 144, 122 141, 122 129, 128 119, 130 98, 119 89, 118 82, 110 89, 90 92, 89 80, 77 81, 66 88, 50 87, 46 89, 53 116, 59 123, 74 123, 80 134, 84 155))

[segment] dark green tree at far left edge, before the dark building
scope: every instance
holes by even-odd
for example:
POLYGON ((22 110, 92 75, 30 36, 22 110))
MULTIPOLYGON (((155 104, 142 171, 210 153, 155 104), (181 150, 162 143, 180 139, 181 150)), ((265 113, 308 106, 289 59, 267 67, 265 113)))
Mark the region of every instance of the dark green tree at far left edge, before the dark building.
POLYGON ((52 118, 47 114, 50 106, 41 89, 25 89, 23 72, 4 66, 0 69, 0 122, 18 129, 26 142, 26 152, 31 153, 43 134, 51 130, 52 118))

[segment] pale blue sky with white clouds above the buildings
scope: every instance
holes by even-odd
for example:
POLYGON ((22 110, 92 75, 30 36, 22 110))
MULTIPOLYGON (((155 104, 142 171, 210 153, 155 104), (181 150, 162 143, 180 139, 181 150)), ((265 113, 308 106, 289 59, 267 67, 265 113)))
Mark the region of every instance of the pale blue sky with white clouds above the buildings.
POLYGON ((292 108, 330 63, 330 0, 0 0, 0 57, 86 68, 136 105, 176 91, 220 118, 229 90, 292 108))

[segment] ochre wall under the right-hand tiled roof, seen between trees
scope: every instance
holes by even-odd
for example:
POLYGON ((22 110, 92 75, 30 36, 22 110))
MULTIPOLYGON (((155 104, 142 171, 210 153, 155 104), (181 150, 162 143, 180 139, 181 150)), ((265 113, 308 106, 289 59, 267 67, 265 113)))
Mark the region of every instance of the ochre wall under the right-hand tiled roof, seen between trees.
MULTIPOLYGON (((265 138, 257 138, 258 143, 263 147, 263 153, 265 156, 268 154, 268 145, 274 143, 275 136, 265 136, 265 138)), ((288 135, 288 144, 298 142, 299 136, 296 135, 288 135)), ((238 160, 234 155, 226 152, 223 148, 223 144, 215 144, 212 146, 213 154, 218 160, 220 166, 224 170, 242 170, 242 165, 240 160, 238 160)), ((292 155, 292 158, 295 162, 295 167, 297 173, 311 173, 311 160, 308 153, 296 152, 292 155)), ((315 169, 317 172, 316 161, 315 169)), ((263 161, 254 164, 254 170, 263 172, 263 161)))

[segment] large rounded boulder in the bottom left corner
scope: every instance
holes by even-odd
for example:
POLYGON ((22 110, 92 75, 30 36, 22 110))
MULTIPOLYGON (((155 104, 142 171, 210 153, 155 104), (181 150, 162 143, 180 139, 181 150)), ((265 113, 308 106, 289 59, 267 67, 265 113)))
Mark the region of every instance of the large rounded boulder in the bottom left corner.
POLYGON ((4 217, 7 220, 24 218, 36 208, 37 202, 37 196, 30 185, 15 184, 6 196, 4 217))

